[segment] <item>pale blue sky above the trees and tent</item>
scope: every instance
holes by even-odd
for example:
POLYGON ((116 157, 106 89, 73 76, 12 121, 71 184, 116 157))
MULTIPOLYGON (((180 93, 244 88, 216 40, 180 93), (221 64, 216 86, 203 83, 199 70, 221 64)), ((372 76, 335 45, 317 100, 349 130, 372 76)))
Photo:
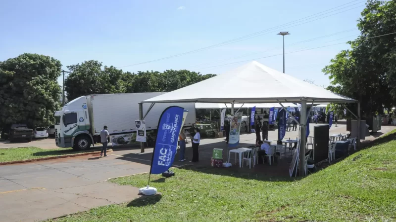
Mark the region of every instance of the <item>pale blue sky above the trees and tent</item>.
POLYGON ((282 71, 282 55, 278 55, 282 54, 282 37, 276 34, 289 31, 291 35, 285 37, 286 73, 314 80, 317 85, 328 85, 329 79, 321 69, 340 50, 347 49, 347 44, 288 53, 357 37, 356 20, 364 8, 363 0, 310 19, 316 21, 285 25, 265 35, 180 57, 128 65, 267 30, 350 1, 5 0, 0 7, 0 60, 30 52, 52 56, 60 60, 65 69, 85 60, 99 60, 104 65, 123 67, 122 70, 130 72, 188 69, 202 74, 221 74, 247 62, 220 65, 255 59, 282 71), (341 13, 332 15, 338 12, 341 13), (332 16, 319 19, 328 15, 332 16), (342 33, 322 37, 338 32, 342 33), (290 45, 315 37, 321 38, 290 45), (256 59, 267 56, 272 57, 256 59), (230 59, 233 57, 239 58, 230 59))

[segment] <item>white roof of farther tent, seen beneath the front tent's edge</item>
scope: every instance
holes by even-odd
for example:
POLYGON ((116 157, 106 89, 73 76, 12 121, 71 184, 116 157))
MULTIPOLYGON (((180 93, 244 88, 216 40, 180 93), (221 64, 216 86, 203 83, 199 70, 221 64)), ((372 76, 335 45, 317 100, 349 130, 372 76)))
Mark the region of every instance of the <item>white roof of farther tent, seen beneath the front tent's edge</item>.
MULTIPOLYGON (((195 109, 225 109, 231 108, 231 104, 224 103, 196 103, 195 109), (227 107, 226 107, 227 105, 227 107)), ((301 107, 293 103, 282 103, 284 107, 301 107)), ((246 103, 246 104, 234 104, 234 109, 239 108, 271 108, 271 107, 280 107, 279 103, 246 103), (243 106, 242 106, 243 105, 243 106)))

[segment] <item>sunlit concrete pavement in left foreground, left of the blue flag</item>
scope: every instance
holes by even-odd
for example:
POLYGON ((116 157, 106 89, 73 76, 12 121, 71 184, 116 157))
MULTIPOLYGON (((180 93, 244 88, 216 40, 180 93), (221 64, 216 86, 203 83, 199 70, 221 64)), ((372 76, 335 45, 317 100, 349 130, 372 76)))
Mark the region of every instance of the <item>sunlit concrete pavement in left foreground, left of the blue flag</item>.
POLYGON ((149 171, 149 161, 134 161, 109 153, 1 166, 0 221, 42 221, 132 201, 138 188, 105 180, 149 171))

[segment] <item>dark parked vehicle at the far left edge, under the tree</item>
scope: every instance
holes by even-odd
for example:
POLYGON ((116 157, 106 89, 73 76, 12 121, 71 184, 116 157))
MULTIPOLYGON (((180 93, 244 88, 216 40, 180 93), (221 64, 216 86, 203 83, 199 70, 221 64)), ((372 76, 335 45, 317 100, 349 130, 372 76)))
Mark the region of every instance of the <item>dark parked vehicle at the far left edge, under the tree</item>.
POLYGON ((1 139, 9 140, 10 142, 14 142, 16 139, 26 139, 31 142, 33 129, 29 129, 26 124, 11 124, 3 129, 1 139))

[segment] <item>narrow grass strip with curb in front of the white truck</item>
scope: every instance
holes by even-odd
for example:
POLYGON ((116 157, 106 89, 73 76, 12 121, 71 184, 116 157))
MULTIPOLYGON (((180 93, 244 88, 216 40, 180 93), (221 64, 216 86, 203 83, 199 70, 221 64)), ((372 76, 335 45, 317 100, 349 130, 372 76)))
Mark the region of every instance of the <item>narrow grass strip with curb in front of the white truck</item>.
POLYGON ((3 148, 0 149, 0 162, 34 159, 48 156, 59 156, 80 152, 93 152, 99 149, 75 151, 73 148, 42 149, 37 147, 28 148, 3 148))

